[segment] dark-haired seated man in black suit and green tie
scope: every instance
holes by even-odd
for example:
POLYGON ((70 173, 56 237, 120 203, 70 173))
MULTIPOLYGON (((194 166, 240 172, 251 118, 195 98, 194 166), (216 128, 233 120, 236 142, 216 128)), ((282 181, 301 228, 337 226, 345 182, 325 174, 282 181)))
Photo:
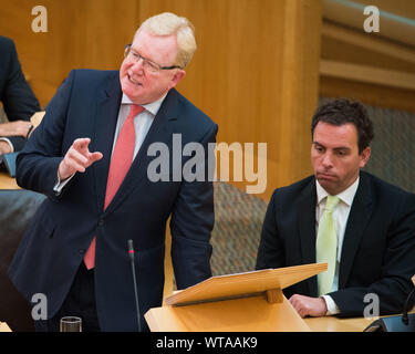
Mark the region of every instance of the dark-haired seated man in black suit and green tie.
POLYGON ((373 299, 377 314, 402 312, 415 274, 415 195, 361 170, 374 135, 360 103, 321 106, 311 133, 314 175, 274 190, 257 269, 328 262, 284 290, 302 317, 363 316, 373 299))

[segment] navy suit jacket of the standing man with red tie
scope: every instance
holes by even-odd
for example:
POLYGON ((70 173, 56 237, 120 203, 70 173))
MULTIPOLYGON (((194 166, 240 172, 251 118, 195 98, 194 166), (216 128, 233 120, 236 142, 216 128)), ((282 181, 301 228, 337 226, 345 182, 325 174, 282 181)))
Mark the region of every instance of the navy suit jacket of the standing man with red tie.
MULTIPOLYGON (((96 236, 95 291, 103 331, 137 330, 128 239, 136 250, 142 315, 160 305, 169 216, 177 287, 186 288, 211 275, 212 184, 172 181, 172 164, 170 181, 151 181, 147 166, 155 157, 147 156, 147 148, 160 142, 172 152, 175 133, 181 134, 183 145, 199 142, 206 147, 215 142, 217 125, 170 90, 122 186, 103 211, 121 97, 117 71, 77 70, 70 73, 49 104, 41 125, 18 158, 17 170, 21 187, 42 192, 48 199, 39 208, 9 270, 27 299, 33 293, 46 294, 51 317, 60 309, 96 236), (79 137, 91 137, 90 150, 102 152, 104 157, 84 174, 75 174, 56 197, 53 187, 58 166, 79 137)), ((184 157, 181 163, 189 158, 184 157)))

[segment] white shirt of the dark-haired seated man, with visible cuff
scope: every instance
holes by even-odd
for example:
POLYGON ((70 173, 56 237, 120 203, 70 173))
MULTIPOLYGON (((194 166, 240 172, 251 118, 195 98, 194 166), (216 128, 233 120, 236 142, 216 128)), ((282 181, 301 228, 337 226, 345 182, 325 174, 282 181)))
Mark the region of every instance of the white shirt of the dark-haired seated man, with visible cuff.
MULTIPOLYGON (((324 207, 326 202, 326 197, 329 194, 324 190, 323 187, 315 180, 317 186, 317 206, 315 206, 315 235, 319 232, 319 222, 321 217, 324 212, 324 207)), ((339 268, 340 268, 340 260, 342 256, 342 247, 343 247, 343 239, 344 239, 344 231, 347 225, 350 209, 353 204, 354 196, 356 194, 359 187, 359 177, 357 179, 345 190, 341 194, 336 195, 339 197, 339 204, 333 210, 333 221, 335 227, 335 233, 338 237, 338 257, 335 262, 335 271, 334 271, 334 280, 332 291, 339 290, 339 268)), ((322 296, 325 300, 325 304, 328 306, 328 315, 339 313, 339 308, 334 303, 333 299, 330 295, 322 296)))

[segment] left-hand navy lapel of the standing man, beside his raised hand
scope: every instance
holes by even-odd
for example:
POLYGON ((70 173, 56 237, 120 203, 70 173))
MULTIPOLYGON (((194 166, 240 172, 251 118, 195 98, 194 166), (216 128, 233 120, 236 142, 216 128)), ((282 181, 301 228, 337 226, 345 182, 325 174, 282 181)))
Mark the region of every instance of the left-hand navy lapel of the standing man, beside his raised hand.
POLYGON ((108 177, 111 153, 114 143, 114 134, 118 118, 122 91, 118 75, 110 80, 107 87, 98 93, 96 102, 96 114, 94 122, 94 140, 92 142, 95 152, 101 152, 103 158, 95 164, 94 178, 97 196, 98 210, 104 209, 106 180, 108 177))

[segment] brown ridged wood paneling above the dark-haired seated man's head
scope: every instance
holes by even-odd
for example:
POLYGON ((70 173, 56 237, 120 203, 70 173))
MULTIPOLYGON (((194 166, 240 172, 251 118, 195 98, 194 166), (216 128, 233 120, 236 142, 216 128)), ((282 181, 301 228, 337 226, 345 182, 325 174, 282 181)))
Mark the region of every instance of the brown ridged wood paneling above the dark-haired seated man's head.
POLYGON ((325 20, 321 46, 321 96, 415 112, 413 46, 325 20))

